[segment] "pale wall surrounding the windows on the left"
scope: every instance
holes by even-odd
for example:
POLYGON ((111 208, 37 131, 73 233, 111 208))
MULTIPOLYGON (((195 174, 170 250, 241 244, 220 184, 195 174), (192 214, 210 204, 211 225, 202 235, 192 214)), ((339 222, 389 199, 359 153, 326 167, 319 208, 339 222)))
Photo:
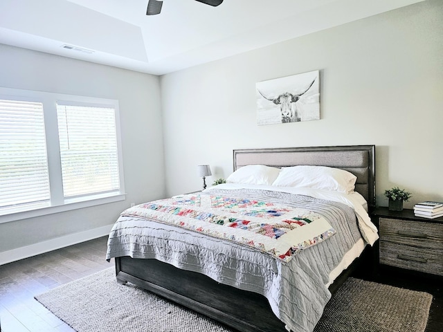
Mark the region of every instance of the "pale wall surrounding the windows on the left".
POLYGON ((0 264, 2 252, 105 235, 131 202, 165 196, 159 77, 0 44, 0 86, 119 100, 127 192, 118 203, 0 223, 0 264))

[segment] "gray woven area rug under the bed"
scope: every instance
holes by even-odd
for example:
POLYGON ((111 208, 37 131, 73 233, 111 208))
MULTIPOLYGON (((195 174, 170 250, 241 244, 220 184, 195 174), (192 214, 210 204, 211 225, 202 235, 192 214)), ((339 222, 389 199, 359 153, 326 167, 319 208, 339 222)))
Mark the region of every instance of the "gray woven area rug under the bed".
MULTIPOLYGON (((231 332, 138 286, 116 282, 114 268, 64 284, 35 299, 78 332, 231 332)), ((349 278, 315 332, 423 332, 432 295, 349 278)))

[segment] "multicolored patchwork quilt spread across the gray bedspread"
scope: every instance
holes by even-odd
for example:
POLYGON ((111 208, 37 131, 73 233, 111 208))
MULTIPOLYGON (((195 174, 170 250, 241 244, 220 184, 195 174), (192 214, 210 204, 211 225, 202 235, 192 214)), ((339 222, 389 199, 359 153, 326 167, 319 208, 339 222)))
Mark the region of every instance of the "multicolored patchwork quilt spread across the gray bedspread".
POLYGON ((235 241, 289 261, 298 251, 336 233, 329 222, 311 208, 248 197, 184 194, 137 205, 122 215, 235 241))

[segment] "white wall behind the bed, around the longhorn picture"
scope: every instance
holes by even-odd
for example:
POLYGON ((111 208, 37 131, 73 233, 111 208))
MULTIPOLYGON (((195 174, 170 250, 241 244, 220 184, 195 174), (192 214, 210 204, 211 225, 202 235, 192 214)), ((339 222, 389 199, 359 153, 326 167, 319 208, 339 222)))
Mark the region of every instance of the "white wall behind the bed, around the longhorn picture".
POLYGON ((443 1, 161 77, 168 194, 232 172, 233 149, 376 145, 377 204, 398 185, 443 201, 443 1), (320 70, 321 120, 256 124, 255 83, 320 70))

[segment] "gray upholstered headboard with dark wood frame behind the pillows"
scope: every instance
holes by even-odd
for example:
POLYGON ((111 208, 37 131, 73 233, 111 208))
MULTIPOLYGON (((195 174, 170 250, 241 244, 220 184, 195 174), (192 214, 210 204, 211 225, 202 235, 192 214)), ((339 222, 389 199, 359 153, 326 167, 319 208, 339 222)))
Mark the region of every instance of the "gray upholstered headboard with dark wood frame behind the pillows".
POLYGON ((355 191, 375 207, 375 146, 282 147, 234 150, 234 170, 245 165, 318 165, 345 169, 357 177, 355 191))

